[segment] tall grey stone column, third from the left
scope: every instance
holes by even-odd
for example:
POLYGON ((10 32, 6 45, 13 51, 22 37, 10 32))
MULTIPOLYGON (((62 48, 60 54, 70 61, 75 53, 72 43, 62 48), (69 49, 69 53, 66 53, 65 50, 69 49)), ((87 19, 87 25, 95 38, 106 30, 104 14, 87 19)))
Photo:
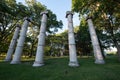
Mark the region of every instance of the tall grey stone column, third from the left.
POLYGON ((34 67, 39 67, 44 65, 43 54, 44 54, 44 46, 45 46, 46 24, 47 24, 47 17, 48 17, 47 14, 48 14, 48 11, 44 11, 41 13, 42 20, 41 20, 41 27, 40 27, 40 34, 38 39, 35 62, 33 64, 34 67))

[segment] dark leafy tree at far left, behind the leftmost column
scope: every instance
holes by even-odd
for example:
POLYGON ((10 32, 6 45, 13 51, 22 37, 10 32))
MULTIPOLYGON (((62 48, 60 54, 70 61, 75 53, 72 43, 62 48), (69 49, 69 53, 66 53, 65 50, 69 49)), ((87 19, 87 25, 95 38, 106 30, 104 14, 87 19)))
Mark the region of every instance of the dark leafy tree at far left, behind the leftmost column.
POLYGON ((17 23, 22 24, 23 18, 30 15, 28 7, 16 0, 0 1, 0 52, 6 52, 17 23), (5 47, 6 46, 6 47, 5 47))

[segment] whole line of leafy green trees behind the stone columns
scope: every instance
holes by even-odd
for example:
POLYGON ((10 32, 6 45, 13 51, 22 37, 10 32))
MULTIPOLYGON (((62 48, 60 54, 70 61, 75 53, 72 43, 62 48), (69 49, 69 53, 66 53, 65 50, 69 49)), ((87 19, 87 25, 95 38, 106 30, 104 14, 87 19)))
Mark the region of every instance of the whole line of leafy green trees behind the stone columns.
MULTIPOLYGON (((24 17, 31 17, 23 53, 29 57, 35 55, 41 24, 40 13, 44 10, 48 10, 47 7, 35 0, 26 0, 26 5, 16 3, 16 0, 0 0, 0 54, 7 52, 15 25, 22 25, 24 17)), ((56 34, 58 28, 62 28, 62 21, 58 21, 51 10, 48 11, 45 55, 68 55, 68 32, 66 30, 56 34)), ((119 0, 72 0, 72 11, 79 13, 81 19, 80 25, 74 28, 78 55, 93 55, 88 24, 84 18, 89 15, 93 17, 101 50, 116 47, 120 57, 119 0)))

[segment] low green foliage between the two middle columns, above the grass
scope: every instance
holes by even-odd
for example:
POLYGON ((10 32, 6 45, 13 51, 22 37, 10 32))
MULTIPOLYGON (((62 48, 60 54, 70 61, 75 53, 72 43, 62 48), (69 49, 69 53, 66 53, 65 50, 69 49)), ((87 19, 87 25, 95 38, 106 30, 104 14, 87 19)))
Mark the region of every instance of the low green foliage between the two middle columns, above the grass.
POLYGON ((65 52, 65 50, 68 50, 66 48, 66 46, 68 46, 68 37, 66 34, 68 33, 63 32, 61 34, 53 34, 46 37, 45 54, 47 56, 63 56, 66 54, 68 55, 68 52, 65 52))

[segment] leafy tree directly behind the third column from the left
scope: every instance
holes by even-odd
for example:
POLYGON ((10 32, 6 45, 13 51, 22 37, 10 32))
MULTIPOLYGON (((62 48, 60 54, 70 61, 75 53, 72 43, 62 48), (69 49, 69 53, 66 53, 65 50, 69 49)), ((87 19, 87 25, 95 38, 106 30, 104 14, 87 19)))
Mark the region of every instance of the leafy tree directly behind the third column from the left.
MULTIPOLYGON (((62 28, 62 21, 57 21, 56 15, 52 13, 52 11, 48 10, 44 5, 42 5, 40 2, 26 2, 28 4, 28 7, 30 8, 32 12, 32 24, 31 27, 29 27, 28 32, 28 40, 30 43, 30 57, 33 55, 33 52, 36 51, 37 47, 37 35, 39 34, 39 29, 41 25, 41 15, 40 13, 42 11, 47 10, 48 11, 48 20, 47 20, 47 34, 53 34, 55 33, 57 28, 62 28), (34 2, 34 3, 33 3, 34 2), (37 29, 35 29, 37 28, 37 29), (54 28, 54 29, 53 29, 54 28), (53 31, 51 31, 51 29, 53 31)), ((47 36, 48 37, 48 36, 47 36)), ((48 46, 49 44, 47 44, 48 46)), ((46 47, 47 51, 49 50, 49 47, 46 47)), ((47 52, 46 51, 46 52, 47 52)))

